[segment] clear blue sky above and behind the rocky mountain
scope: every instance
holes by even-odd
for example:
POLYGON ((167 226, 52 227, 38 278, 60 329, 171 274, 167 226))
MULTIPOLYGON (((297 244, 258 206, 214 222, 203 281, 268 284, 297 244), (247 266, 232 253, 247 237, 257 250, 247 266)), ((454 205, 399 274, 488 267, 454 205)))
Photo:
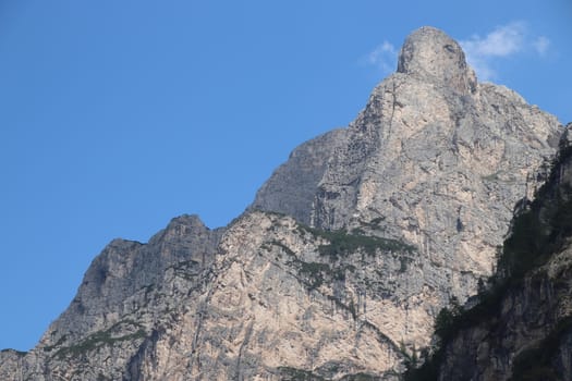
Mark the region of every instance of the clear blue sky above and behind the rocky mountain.
POLYGON ((569 0, 0 0, 0 348, 34 346, 112 238, 240 214, 423 25, 572 121, 571 20, 569 0))

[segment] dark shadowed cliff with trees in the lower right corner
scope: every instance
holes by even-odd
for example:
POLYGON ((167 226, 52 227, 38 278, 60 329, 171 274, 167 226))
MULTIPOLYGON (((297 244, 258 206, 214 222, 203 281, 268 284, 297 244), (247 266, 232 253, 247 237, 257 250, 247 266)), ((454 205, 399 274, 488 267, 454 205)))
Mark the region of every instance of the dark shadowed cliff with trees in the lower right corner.
POLYGON ((571 153, 565 142, 515 218, 491 288, 452 324, 440 380, 572 380, 571 153))

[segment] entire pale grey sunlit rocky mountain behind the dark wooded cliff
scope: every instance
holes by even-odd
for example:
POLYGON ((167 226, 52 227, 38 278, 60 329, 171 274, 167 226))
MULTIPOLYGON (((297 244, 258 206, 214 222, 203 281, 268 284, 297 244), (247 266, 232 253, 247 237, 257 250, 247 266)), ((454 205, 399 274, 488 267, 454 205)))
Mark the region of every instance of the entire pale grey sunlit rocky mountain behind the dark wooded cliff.
POLYGON ((115 239, 5 380, 399 380, 494 274, 564 128, 422 27, 346 128, 291 153, 228 226, 115 239))

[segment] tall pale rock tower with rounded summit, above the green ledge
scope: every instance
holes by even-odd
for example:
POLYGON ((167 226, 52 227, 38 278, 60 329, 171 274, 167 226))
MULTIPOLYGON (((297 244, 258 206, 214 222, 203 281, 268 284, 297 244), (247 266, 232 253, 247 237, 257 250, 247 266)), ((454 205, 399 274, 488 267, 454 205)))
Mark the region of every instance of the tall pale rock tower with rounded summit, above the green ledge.
POLYGON ((374 221, 417 248, 410 278, 389 293, 397 315, 415 317, 405 346, 423 347, 438 309, 492 273, 513 208, 543 182, 560 132, 514 91, 478 84, 455 41, 422 28, 334 147, 311 222, 352 230, 374 221))

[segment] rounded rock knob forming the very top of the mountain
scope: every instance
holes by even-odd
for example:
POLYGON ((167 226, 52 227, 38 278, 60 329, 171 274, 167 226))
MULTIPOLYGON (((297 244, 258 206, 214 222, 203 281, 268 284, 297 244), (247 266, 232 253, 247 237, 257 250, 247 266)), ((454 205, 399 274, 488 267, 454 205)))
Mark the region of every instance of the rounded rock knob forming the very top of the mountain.
POLYGON ((445 32, 424 26, 413 32, 399 54, 398 73, 419 76, 457 93, 476 89, 476 77, 461 46, 445 32))

